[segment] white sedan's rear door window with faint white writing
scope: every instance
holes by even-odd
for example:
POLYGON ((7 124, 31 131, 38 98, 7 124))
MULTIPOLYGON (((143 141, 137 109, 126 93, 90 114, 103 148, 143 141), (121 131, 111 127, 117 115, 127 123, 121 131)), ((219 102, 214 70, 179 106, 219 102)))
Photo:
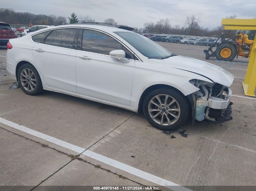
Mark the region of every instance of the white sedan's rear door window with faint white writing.
POLYGON ((73 48, 76 29, 53 30, 45 39, 45 44, 62 48, 73 48))

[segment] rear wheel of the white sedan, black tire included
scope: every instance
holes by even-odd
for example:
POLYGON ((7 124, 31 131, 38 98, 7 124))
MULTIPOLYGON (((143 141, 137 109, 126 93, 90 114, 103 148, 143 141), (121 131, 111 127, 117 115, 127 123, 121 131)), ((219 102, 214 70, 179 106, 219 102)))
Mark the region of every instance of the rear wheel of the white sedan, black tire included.
POLYGON ((41 78, 35 67, 29 63, 22 65, 18 69, 18 83, 22 91, 28 95, 38 95, 43 92, 41 78), (28 76, 30 77, 29 80, 27 80, 28 76), (28 82, 30 84, 28 84, 28 82))

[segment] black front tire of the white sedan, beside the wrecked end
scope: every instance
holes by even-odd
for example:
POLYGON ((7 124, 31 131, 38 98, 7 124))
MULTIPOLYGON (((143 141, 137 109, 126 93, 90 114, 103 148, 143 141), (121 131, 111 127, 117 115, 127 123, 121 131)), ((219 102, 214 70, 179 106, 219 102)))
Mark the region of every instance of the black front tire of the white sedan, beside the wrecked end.
POLYGON ((169 88, 160 88, 150 92, 145 97, 145 100, 143 102, 143 113, 145 115, 145 118, 148 120, 148 122, 152 126, 161 130, 178 129, 188 119, 189 112, 190 112, 190 108, 189 108, 189 103, 186 97, 180 92, 178 92, 177 90, 173 90, 169 88), (157 96, 160 98, 161 104, 165 104, 166 95, 168 96, 167 104, 165 105, 165 107, 162 107, 162 106, 159 107, 160 104, 159 104, 159 101, 157 101, 158 100, 157 96), (173 99, 175 100, 174 103, 172 103, 173 99), (156 105, 153 104, 151 100, 153 100, 156 103, 156 105), (171 106, 168 106, 168 104, 170 103, 171 103, 171 106), (170 109, 177 110, 177 111, 171 111, 170 109), (151 112, 149 112, 149 110, 151 110, 151 112), (172 113, 173 115, 178 117, 178 119, 169 113, 172 113), (156 116, 155 119, 153 119, 154 116, 156 116), (164 117, 163 117, 163 121, 161 122, 162 116, 164 117), (168 116, 169 122, 167 120, 167 116, 168 116))

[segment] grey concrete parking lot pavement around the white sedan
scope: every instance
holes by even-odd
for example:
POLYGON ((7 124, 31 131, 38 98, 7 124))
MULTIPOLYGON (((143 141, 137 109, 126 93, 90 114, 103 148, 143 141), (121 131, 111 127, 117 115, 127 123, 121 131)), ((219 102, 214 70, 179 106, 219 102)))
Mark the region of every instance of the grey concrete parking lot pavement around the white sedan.
MULTIPOLYGON (((177 47, 173 45, 174 52, 177 47)), ((194 57, 201 51, 198 49, 192 49, 194 57)), ((5 55, 6 50, 0 49, 3 68, 5 55)), ((234 75, 244 77, 245 66, 233 67, 234 75)), ((7 71, 0 70, 3 119, 181 186, 256 186, 256 100, 245 98, 240 79, 231 86, 234 95, 242 96, 231 98, 233 120, 222 124, 197 122, 194 126, 188 121, 171 134, 176 137, 171 139, 171 135, 151 127, 142 115, 128 110, 54 92, 28 96, 20 88, 8 90, 14 80, 4 75, 7 71), (183 129, 188 138, 179 135, 183 129)), ((3 123, 0 137, 1 186, 28 185, 32 187, 22 189, 45 190, 46 185, 158 185, 144 175, 138 177, 118 165, 111 166, 3 123)))

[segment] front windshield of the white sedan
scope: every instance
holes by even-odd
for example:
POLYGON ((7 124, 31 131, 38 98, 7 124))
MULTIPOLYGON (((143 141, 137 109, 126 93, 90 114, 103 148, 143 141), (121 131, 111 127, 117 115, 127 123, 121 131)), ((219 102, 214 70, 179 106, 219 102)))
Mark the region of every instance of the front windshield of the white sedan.
POLYGON ((164 49, 162 46, 153 42, 150 39, 142 37, 141 35, 133 32, 114 32, 131 46, 137 49, 142 55, 149 59, 164 59, 172 56, 172 54, 164 49))

